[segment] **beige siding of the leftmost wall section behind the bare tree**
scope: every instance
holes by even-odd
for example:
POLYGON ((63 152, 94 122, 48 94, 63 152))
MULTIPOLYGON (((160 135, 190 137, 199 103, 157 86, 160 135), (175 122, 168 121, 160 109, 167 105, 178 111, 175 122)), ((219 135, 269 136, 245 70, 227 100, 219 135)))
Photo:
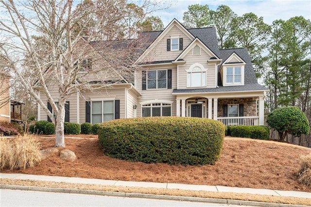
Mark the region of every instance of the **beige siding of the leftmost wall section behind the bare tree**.
MULTIPOLYGON (((50 88, 50 94, 52 96, 52 99, 54 102, 58 102, 58 89, 56 86, 49 86, 50 88)), ((47 106, 48 105, 48 99, 42 91, 40 92, 40 99, 42 102, 47 106)), ((67 99, 69 101, 69 121, 76 123, 77 122, 77 93, 74 93, 69 96, 67 99)), ((40 118, 39 120, 45 120, 48 121, 48 114, 43 110, 43 108, 40 106, 40 118)))

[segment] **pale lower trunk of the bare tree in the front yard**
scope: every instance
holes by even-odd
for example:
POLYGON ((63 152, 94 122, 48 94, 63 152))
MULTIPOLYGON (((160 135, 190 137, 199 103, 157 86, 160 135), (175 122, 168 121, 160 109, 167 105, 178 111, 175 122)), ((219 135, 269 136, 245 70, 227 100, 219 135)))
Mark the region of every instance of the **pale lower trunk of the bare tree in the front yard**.
POLYGON ((59 102, 55 118, 55 147, 65 147, 64 137, 65 104, 59 102))

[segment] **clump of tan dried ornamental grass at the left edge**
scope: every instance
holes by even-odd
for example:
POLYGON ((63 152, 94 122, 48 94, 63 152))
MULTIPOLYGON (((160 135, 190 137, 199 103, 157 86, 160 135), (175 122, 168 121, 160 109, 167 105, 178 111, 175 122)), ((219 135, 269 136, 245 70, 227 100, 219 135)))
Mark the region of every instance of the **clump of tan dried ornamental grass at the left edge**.
POLYGON ((0 139, 0 167, 19 170, 33 167, 41 161, 39 138, 35 135, 0 139))

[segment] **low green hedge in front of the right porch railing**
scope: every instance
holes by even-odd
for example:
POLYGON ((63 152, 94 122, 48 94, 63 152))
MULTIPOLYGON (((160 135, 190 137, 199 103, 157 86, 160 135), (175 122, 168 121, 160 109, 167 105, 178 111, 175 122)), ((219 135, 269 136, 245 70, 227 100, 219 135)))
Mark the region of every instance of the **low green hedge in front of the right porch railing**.
POLYGON ((232 137, 269 139, 269 128, 267 126, 226 126, 225 135, 232 137))

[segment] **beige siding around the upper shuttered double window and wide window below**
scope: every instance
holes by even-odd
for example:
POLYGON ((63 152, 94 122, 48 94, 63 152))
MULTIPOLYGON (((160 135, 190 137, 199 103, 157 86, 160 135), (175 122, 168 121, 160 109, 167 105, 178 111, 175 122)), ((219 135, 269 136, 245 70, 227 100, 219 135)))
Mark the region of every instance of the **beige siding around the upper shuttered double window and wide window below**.
POLYGON ((172 69, 172 89, 151 89, 151 90, 142 90, 142 80, 141 73, 137 82, 137 89, 141 94, 141 97, 138 99, 137 104, 137 117, 141 117, 141 106, 140 102, 150 101, 150 100, 166 100, 173 101, 172 104, 172 116, 176 116, 176 96, 172 95, 173 89, 177 87, 177 73, 176 67, 152 67, 150 70, 154 69, 172 69))

